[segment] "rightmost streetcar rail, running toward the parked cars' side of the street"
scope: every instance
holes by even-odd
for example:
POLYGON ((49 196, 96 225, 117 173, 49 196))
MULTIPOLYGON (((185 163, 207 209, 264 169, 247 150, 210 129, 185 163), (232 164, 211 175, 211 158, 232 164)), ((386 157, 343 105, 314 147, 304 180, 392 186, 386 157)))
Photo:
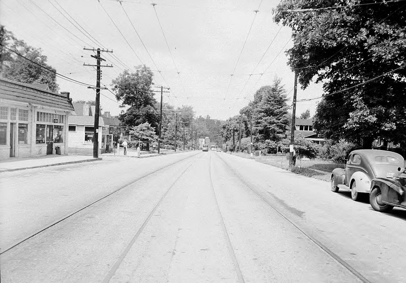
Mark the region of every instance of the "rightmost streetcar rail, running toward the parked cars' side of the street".
MULTIPOLYGON (((315 244, 317 247, 319 247, 322 251, 324 251, 326 254, 328 254, 330 257, 332 257, 337 263, 341 264, 341 266, 343 266, 344 268, 346 268, 346 270, 348 270, 351 274, 353 274, 358 280, 362 281, 363 283, 372 283, 371 281, 369 281, 368 279, 366 279, 361 273, 359 273, 358 271, 356 271, 352 266, 350 266, 350 264, 348 264, 346 261, 344 261, 343 259, 341 259, 341 257, 339 257, 339 255, 337 255, 336 253, 334 253, 333 251, 331 251, 327 246, 325 246, 324 244, 322 244, 321 242, 319 242, 315 237, 309 235, 309 233, 307 233, 306 231, 304 231, 303 229, 301 229, 296 223, 294 223, 293 220, 290 220, 284 213, 280 212, 279 210, 276 209, 276 207, 274 207, 274 205, 272 205, 265 197, 263 197, 259 192, 257 192, 256 190, 254 190, 242 177, 241 175, 236 172, 223 158, 221 158, 220 156, 218 156, 218 158, 226 165, 226 167, 229 169, 229 171, 231 171, 239 180, 240 182, 246 186, 247 188, 249 188, 251 191, 253 191, 263 202, 265 202, 269 207, 272 208, 272 210, 274 210, 277 214, 279 214, 280 216, 282 216, 282 218, 284 218, 285 220, 287 220, 290 224, 292 224, 298 231, 300 231, 308 240, 310 240, 311 242, 313 242, 313 244, 315 244)), ((211 175, 210 175, 211 178, 211 175)))

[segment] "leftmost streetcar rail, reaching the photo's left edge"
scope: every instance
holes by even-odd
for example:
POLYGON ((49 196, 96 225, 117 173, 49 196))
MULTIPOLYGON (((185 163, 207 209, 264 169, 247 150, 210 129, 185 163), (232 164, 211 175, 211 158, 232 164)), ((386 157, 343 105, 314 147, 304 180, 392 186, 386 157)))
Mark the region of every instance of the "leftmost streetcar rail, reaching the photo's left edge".
POLYGON ((66 220, 67 218, 69 218, 69 217, 71 217, 71 216, 77 214, 78 212, 81 212, 82 210, 86 209, 87 207, 89 207, 89 206, 91 206, 91 205, 94 205, 95 203, 98 203, 99 201, 105 199, 106 197, 111 196, 112 194, 118 192, 119 190, 122 190, 123 188, 125 188, 125 187, 127 187, 127 186, 130 186, 130 185, 134 184, 135 182, 140 181, 141 179, 144 179, 145 177, 148 177, 149 175, 152 175, 153 173, 156 173, 156 172, 158 172, 158 171, 161 171, 162 169, 168 168, 168 166, 172 166, 172 165, 177 164, 178 162, 181 162, 181 161, 183 161, 183 160, 185 160, 185 159, 191 158, 191 157, 193 157, 193 156, 197 156, 197 155, 200 154, 200 153, 201 153, 201 152, 196 153, 196 154, 191 155, 191 156, 188 156, 188 157, 186 157, 186 158, 182 158, 181 160, 178 160, 178 161, 173 162, 173 163, 171 163, 171 164, 168 164, 168 165, 166 165, 166 166, 162 166, 162 167, 160 167, 160 168, 158 168, 158 169, 156 169, 156 170, 154 170, 154 171, 152 171, 152 172, 149 172, 149 173, 147 173, 147 174, 145 174, 145 175, 143 175, 143 176, 141 176, 141 177, 138 177, 137 179, 134 179, 134 180, 128 182, 127 184, 121 186, 120 188, 117 188, 116 190, 114 190, 114 191, 110 192, 109 194, 105 195, 104 197, 102 197, 102 198, 100 198, 100 199, 97 199, 96 201, 93 201, 92 203, 90 203, 90 204, 88 204, 88 205, 86 205, 86 206, 80 208, 79 210, 76 210, 75 212, 72 212, 72 213, 68 214, 67 216, 65 216, 65 217, 63 217, 63 218, 57 220, 56 222, 54 222, 54 223, 52 223, 52 224, 46 226, 45 228, 43 228, 43 229, 41 229, 41 230, 35 232, 34 234, 28 236, 27 238, 24 238, 23 240, 17 242, 16 244, 13 244, 13 245, 10 246, 9 248, 6 248, 4 251, 0 252, 0 255, 2 255, 3 253, 6 253, 7 251, 10 251, 12 248, 15 248, 15 247, 18 246, 19 244, 22 244, 22 243, 25 242, 26 240, 28 240, 28 239, 30 239, 30 238, 32 238, 32 237, 38 235, 39 233, 42 233, 43 231, 49 229, 50 227, 52 227, 52 226, 54 226, 54 225, 56 225, 56 224, 62 222, 63 220, 66 220))

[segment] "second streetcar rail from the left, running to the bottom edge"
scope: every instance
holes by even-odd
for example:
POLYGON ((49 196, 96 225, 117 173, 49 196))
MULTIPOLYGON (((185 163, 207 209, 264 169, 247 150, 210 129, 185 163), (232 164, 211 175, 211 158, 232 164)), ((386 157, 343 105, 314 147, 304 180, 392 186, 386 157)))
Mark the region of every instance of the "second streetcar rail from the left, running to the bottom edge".
MULTIPOLYGON (((195 155, 194 155, 195 156, 195 155)), ((171 190, 171 188, 173 188, 173 186, 175 186, 176 182, 184 175, 184 173, 194 164, 196 163, 196 160, 194 162, 192 162, 188 167, 186 167, 186 169, 179 175, 179 177, 177 177, 175 179, 175 181, 173 181, 173 183, 171 184, 171 186, 168 188, 168 190, 166 190, 166 192, 162 195, 162 197, 160 198, 160 200, 158 201, 158 203, 153 207, 153 209, 151 210, 151 212, 148 214, 147 218, 145 218, 143 224, 141 225, 141 227, 138 229, 138 231, 135 233, 134 237, 131 239, 131 241, 127 244, 127 246, 125 247, 124 251, 121 253, 120 257, 117 259, 117 261, 114 263, 114 265, 110 268, 110 271, 108 272, 108 274, 106 275, 106 277, 104 278, 104 280, 102 281, 102 283, 109 283, 110 280, 112 279, 112 277, 114 276, 114 274, 116 273, 117 269, 119 269, 121 263, 123 262, 124 258, 127 256, 128 252, 130 251, 130 249, 132 248, 132 246, 134 245, 135 241, 138 239, 139 235, 143 232, 145 226, 147 226, 147 224, 149 223, 149 220, 151 219, 151 217, 153 216, 153 214, 155 213, 155 211, 158 209, 159 205, 162 203, 162 201, 164 200, 164 198, 166 197, 166 195, 169 193, 169 191, 171 190)))

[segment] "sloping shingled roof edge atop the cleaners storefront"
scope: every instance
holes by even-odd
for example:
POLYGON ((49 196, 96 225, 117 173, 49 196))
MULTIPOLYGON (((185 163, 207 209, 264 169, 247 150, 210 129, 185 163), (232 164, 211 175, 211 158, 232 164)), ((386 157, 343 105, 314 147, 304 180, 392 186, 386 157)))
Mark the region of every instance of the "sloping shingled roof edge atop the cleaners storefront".
POLYGON ((71 100, 65 95, 5 78, 0 78, 0 98, 70 111, 74 110, 71 100))

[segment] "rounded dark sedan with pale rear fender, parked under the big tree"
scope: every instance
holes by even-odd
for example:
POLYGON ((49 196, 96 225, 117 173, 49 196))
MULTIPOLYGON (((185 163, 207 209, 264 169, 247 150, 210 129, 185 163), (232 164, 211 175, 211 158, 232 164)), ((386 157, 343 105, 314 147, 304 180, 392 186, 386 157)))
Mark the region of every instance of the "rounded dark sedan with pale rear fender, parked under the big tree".
POLYGON ((331 190, 351 190, 351 198, 359 201, 361 194, 371 192, 374 178, 393 178, 404 168, 403 157, 395 152, 359 149, 348 155, 345 169, 336 168, 331 174, 331 190))

